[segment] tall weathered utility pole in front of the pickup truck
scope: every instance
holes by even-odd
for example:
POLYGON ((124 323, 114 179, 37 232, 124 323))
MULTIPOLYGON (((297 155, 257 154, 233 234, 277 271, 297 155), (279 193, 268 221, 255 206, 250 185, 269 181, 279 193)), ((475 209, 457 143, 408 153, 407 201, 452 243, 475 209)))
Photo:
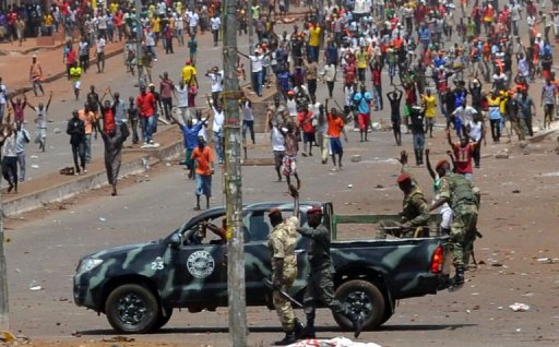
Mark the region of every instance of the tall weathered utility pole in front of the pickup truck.
POLYGON ((245 240, 242 235, 242 178, 240 165, 239 80, 237 77, 237 0, 225 0, 223 34, 225 110, 225 199, 227 208, 227 296, 229 346, 247 346, 247 300, 245 290, 245 240))

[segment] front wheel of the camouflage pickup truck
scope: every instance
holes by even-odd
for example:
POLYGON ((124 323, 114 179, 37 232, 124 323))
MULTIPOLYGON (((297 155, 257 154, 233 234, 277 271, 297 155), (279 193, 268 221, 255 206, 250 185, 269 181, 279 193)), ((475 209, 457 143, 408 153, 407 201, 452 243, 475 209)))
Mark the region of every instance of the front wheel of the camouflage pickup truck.
POLYGON ((105 313, 110 326, 116 331, 126 334, 145 334, 154 330, 160 309, 157 298, 150 289, 129 284, 117 287, 110 292, 105 302, 105 313))

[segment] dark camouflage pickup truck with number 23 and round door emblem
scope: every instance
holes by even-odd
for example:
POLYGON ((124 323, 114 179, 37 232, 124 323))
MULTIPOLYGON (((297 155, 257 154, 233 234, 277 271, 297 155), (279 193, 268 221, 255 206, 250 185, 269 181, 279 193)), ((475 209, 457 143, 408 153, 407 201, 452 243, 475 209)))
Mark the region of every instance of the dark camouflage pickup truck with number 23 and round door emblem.
MULTIPOLYGON (((307 224, 305 212, 313 205, 322 206, 324 225, 335 230, 331 203, 301 202, 301 226, 307 224)), ((271 208, 289 215, 293 204, 258 203, 243 210, 247 306, 269 309, 272 296, 263 279, 271 277, 271 208)), ((158 241, 83 258, 74 276, 74 302, 105 313, 122 333, 157 331, 175 308, 200 312, 227 307, 227 244, 207 227, 207 223, 221 225, 223 218, 224 207, 212 208, 158 241)), ((298 300, 309 273, 307 242, 299 236, 298 277, 290 291, 298 300)), ((449 286, 444 238, 333 240, 331 247, 335 296, 365 318, 367 330, 386 322, 396 300, 437 294, 449 286)), ((334 314, 334 319, 342 328, 353 330, 345 316, 334 314)))

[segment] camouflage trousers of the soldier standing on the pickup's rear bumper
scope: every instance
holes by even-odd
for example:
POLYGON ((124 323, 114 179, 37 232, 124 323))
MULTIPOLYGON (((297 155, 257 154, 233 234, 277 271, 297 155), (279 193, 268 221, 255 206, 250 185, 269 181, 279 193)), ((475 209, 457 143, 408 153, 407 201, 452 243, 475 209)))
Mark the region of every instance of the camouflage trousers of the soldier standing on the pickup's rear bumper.
POLYGON ((476 239, 477 207, 460 205, 454 208, 454 219, 450 226, 451 242, 454 249, 454 266, 467 265, 469 253, 476 239))

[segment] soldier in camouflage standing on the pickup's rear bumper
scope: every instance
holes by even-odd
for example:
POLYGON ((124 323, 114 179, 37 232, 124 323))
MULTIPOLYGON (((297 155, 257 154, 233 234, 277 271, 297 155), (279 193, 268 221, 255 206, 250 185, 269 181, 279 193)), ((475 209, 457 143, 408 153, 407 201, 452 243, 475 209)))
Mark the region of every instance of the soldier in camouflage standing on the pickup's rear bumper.
POLYGON ((453 264, 456 270, 454 285, 460 286, 464 284, 464 266, 469 260, 476 239, 479 190, 464 176, 452 172, 449 161, 444 159, 439 160, 435 169, 441 177, 441 188, 439 199, 430 210, 449 203, 454 213, 450 235, 454 250, 453 264))

